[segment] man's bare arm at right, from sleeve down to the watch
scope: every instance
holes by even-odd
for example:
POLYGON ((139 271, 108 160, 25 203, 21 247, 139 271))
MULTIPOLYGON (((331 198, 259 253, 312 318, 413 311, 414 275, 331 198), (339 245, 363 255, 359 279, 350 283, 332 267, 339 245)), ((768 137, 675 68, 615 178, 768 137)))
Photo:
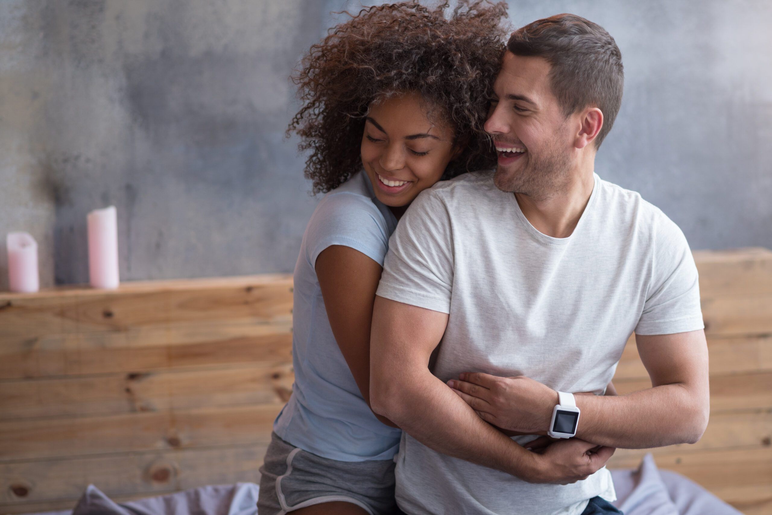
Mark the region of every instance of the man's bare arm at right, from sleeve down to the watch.
POLYGON ((705 332, 635 335, 635 342, 652 388, 625 396, 576 396, 577 437, 622 449, 696 443, 710 412, 705 332))

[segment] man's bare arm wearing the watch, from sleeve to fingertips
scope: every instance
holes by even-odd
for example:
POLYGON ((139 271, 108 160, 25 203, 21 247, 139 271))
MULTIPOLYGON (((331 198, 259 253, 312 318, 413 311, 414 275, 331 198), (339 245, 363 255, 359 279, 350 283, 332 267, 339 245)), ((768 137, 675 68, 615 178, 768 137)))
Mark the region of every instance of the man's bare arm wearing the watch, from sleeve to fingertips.
MULTIPOLYGON (((625 396, 574 395, 581 410, 576 437, 621 449, 696 443, 709 416, 705 333, 635 335, 635 341, 652 388, 625 396)), ((554 389, 522 375, 464 373, 450 385, 481 419, 540 435, 547 434, 559 399, 554 389)))

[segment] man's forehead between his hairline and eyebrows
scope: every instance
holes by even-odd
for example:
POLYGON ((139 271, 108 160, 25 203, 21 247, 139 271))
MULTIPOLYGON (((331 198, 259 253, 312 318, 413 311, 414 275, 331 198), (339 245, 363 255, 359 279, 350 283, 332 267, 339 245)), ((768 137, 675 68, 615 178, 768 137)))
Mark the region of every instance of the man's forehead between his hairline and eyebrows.
POLYGON ((539 101, 550 94, 550 62, 543 57, 505 52, 494 89, 498 96, 527 96, 539 101))

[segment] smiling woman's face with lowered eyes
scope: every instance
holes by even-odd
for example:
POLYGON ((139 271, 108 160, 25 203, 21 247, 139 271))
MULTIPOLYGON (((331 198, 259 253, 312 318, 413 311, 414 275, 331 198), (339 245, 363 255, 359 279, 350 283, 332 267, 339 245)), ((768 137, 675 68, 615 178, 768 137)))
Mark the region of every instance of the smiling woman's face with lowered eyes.
POLYGON ((442 177, 455 153, 453 132, 428 119, 418 93, 405 93, 370 106, 361 153, 378 200, 407 206, 442 177))

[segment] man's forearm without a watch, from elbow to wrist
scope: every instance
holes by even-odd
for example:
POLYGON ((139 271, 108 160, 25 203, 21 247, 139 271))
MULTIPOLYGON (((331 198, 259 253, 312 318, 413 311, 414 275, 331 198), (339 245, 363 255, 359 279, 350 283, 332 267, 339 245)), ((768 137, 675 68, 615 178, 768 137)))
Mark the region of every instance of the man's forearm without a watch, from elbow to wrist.
POLYGON ((428 369, 409 375, 409 381, 392 383, 384 396, 390 400, 374 405, 376 412, 381 409, 403 431, 439 453, 513 476, 533 466, 533 453, 480 419, 428 369))

